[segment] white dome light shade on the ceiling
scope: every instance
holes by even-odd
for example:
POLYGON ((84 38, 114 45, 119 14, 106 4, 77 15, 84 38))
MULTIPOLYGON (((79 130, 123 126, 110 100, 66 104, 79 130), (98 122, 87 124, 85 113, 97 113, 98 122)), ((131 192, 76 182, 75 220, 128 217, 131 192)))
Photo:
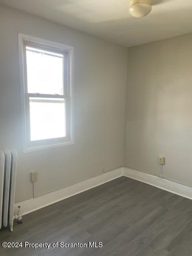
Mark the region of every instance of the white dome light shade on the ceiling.
POLYGON ((151 0, 132 0, 129 12, 132 16, 141 18, 149 14, 151 9, 151 0))

